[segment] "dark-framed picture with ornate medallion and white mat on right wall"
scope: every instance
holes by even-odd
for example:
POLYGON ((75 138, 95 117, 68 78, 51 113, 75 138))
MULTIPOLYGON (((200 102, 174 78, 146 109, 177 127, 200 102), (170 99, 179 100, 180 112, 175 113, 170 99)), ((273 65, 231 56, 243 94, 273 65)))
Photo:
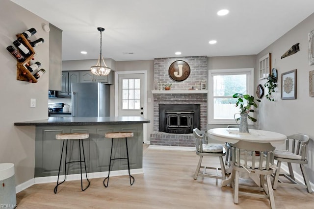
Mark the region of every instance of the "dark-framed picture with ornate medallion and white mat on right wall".
POLYGON ((281 74, 281 99, 296 99, 296 69, 281 74))

